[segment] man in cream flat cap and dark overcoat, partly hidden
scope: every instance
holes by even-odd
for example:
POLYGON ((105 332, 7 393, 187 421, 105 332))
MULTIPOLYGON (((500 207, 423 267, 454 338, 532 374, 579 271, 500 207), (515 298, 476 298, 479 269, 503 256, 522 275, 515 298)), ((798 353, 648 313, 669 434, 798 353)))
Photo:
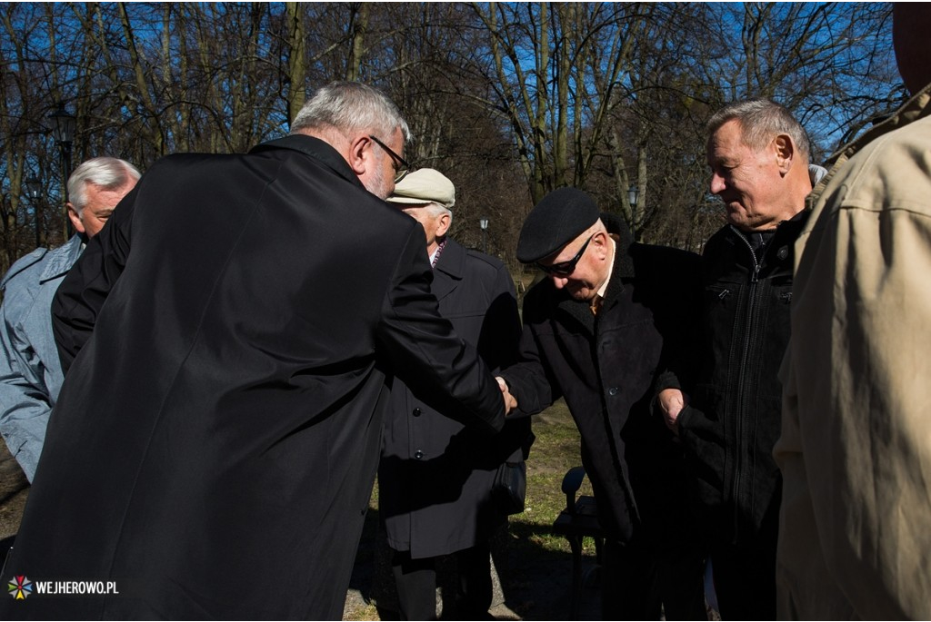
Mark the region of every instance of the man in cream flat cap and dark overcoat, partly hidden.
MULTIPOLYGON (((478 348, 492 369, 513 363, 520 337, 514 282, 501 261, 447 236, 455 204, 452 181, 422 168, 398 182, 388 203, 423 225, 432 290, 456 334, 478 348)), ((508 510, 494 503, 492 485, 499 468, 524 472, 523 449, 532 440, 529 419, 509 421, 490 437, 445 412, 423 383, 395 379, 385 417, 378 509, 395 551, 392 571, 401 617, 407 620, 436 619, 436 563, 451 553, 459 614, 488 616, 489 543, 508 510)))

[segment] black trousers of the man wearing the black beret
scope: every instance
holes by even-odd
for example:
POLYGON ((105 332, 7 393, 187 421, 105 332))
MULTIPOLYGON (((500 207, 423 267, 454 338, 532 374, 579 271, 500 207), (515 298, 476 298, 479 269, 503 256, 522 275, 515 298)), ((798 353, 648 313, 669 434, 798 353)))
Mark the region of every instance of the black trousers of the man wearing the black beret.
POLYGON ((611 540, 604 544, 601 619, 708 619, 700 545, 649 550, 611 540))

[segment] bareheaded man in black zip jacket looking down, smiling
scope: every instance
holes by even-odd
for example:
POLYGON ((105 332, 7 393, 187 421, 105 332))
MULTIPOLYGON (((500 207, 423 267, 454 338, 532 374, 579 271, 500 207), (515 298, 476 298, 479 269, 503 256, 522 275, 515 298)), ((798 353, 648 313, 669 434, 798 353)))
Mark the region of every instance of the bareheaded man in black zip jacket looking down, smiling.
POLYGON ((730 104, 708 122, 710 191, 728 224, 703 253, 690 355, 661 378, 659 405, 693 463, 724 619, 775 619, 782 482, 773 460, 789 342, 792 247, 808 212, 810 143, 783 106, 730 104))

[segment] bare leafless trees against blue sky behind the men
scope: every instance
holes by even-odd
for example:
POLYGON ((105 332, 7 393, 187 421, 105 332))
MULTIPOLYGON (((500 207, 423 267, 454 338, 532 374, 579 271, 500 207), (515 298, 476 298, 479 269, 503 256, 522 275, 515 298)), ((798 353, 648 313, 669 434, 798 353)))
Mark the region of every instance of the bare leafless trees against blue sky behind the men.
POLYGON ((700 247, 720 211, 704 124, 771 97, 836 149, 904 97, 880 3, 12 3, 0 5, 0 268, 64 241, 49 113, 74 162, 143 169, 284 134, 308 90, 362 80, 396 99, 412 160, 456 183, 453 234, 513 257, 527 211, 565 185, 643 240, 700 247), (41 179, 27 200, 26 179, 41 179), (637 192, 628 200, 628 190, 637 192))

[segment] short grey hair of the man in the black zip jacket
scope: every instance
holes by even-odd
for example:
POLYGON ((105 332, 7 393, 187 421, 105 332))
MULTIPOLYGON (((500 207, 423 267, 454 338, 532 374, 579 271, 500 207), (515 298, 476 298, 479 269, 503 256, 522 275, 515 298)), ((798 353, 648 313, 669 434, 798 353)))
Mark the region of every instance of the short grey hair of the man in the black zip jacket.
POLYGON ((808 133, 785 106, 769 99, 746 99, 730 103, 708 120, 708 138, 732 119, 740 124, 741 141, 750 149, 761 151, 777 135, 788 134, 805 161, 811 161, 808 133))

